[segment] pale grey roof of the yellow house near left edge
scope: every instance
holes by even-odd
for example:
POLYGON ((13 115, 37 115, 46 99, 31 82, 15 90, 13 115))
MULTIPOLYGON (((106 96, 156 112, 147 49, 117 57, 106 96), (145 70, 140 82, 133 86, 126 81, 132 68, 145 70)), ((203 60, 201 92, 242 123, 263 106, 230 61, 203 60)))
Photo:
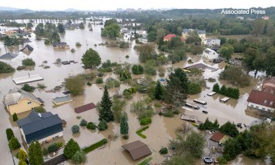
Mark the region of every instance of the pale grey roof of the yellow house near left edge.
POLYGON ((20 100, 22 100, 24 98, 29 98, 30 100, 34 100, 36 102, 39 102, 40 104, 43 103, 38 98, 36 98, 33 94, 30 94, 28 91, 24 91, 24 90, 18 89, 18 88, 14 88, 10 92, 10 94, 4 96, 3 103, 6 106, 9 106, 12 104, 17 104, 18 102, 20 102, 20 100))

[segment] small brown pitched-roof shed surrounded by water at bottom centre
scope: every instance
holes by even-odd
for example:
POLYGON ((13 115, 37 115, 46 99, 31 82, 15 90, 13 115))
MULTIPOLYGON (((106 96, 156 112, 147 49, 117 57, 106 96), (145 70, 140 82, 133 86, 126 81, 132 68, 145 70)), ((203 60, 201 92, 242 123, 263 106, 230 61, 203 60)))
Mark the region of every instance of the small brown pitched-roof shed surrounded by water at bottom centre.
POLYGON ((126 151, 131 154, 134 160, 151 155, 152 153, 148 146, 143 142, 140 142, 140 140, 131 142, 129 144, 124 144, 122 148, 126 149, 126 151))

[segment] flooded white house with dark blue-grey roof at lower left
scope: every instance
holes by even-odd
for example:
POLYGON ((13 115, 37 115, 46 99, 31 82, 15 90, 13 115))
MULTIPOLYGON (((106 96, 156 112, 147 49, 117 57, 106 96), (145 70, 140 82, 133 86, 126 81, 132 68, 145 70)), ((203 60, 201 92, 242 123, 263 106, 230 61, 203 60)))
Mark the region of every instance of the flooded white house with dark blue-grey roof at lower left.
POLYGON ((50 142, 63 136, 62 120, 51 112, 38 113, 33 110, 28 117, 18 120, 17 124, 27 144, 35 140, 39 143, 50 142))

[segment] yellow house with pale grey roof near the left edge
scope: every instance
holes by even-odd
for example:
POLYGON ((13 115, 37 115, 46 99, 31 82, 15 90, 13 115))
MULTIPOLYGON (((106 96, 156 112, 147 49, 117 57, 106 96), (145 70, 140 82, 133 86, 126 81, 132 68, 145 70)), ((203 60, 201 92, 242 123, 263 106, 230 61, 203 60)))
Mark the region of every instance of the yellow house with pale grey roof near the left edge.
POLYGON ((14 113, 22 113, 35 107, 40 107, 43 104, 43 100, 36 98, 28 91, 14 88, 10 94, 4 96, 3 104, 5 104, 10 115, 13 115, 14 113))

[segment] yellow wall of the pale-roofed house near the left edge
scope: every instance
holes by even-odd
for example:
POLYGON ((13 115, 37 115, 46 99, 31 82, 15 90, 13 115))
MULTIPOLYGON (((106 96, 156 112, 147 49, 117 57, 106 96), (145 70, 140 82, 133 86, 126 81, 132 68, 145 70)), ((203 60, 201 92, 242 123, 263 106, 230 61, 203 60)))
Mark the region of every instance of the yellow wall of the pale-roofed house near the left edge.
POLYGON ((17 104, 12 104, 7 107, 8 111, 10 111, 10 115, 13 115, 14 113, 22 113, 24 111, 30 111, 34 109, 35 107, 40 107, 41 104, 38 102, 35 102, 34 100, 30 100, 28 98, 24 98, 20 100, 17 104), (28 104, 28 102, 31 102, 28 104))

